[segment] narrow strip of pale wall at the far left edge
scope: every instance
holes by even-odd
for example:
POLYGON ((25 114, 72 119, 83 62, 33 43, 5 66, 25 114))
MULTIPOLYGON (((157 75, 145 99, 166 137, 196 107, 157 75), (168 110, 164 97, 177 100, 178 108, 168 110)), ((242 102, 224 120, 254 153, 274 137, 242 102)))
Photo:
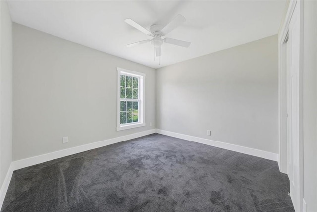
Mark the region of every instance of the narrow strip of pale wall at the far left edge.
MULTIPOLYGON (((0 0, 0 186, 12 161, 12 22, 0 0)), ((1 198, 2 200, 2 198, 1 198)))

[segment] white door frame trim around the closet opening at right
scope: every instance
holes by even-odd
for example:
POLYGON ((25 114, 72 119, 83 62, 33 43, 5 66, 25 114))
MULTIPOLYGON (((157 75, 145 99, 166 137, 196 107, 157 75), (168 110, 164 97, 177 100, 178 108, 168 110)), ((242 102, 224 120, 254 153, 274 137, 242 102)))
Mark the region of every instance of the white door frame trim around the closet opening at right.
MULTIPOLYGON (((299 18, 300 18, 300 53, 299 53, 299 188, 300 194, 298 194, 299 203, 298 208, 302 210, 303 206, 303 193, 304 193, 304 177, 303 177, 303 25, 304 25, 304 13, 303 0, 291 0, 288 6, 288 10, 285 16, 285 21, 281 27, 281 31, 278 36, 278 128, 279 128, 279 159, 278 165, 282 173, 288 173, 287 171, 287 66, 286 66, 286 39, 288 36, 288 27, 292 18, 295 6, 299 6, 299 18)), ((295 200, 292 200, 295 201, 295 200)))

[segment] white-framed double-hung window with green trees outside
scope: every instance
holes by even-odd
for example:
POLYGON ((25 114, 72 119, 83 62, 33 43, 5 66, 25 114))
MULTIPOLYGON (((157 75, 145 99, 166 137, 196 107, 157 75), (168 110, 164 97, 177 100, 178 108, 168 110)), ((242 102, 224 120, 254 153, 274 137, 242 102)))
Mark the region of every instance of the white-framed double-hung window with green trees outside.
POLYGON ((145 126, 144 84, 145 74, 117 68, 118 119, 117 131, 145 126))

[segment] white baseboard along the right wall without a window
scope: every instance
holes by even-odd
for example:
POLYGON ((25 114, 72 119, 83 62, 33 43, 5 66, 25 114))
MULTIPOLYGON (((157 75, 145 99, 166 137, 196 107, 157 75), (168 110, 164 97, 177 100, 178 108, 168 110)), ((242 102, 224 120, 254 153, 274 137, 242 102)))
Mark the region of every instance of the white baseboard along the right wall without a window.
POLYGON ((175 137, 178 139, 194 141, 194 142, 203 143, 203 144, 210 145, 210 146, 215 146, 215 147, 219 147, 219 148, 223 148, 223 149, 227 149, 227 150, 231 150, 231 151, 236 151, 236 152, 249 154, 249 155, 256 156, 256 157, 265 158, 268 160, 278 161, 278 154, 268 152, 268 151, 249 148, 249 147, 245 147, 245 146, 239 146, 239 145, 235 145, 235 144, 231 144, 231 143, 224 143, 224 142, 220 142, 220 141, 203 139, 203 138, 199 138, 199 137, 195 137, 195 136, 188 136, 185 134, 174 133, 174 132, 170 132, 170 131, 166 131, 166 130, 157 129, 156 132, 159 134, 162 134, 162 135, 171 136, 171 137, 175 137))

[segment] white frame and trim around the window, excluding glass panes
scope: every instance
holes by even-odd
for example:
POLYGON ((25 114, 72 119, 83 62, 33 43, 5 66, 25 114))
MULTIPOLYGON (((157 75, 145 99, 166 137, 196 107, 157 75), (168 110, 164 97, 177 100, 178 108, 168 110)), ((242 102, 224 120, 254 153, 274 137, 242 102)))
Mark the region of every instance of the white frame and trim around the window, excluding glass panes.
MULTIPOLYGON (((127 130, 136 127, 145 126, 145 73, 131 71, 117 67, 117 131, 127 130), (120 104, 121 104, 121 74, 139 78, 139 121, 134 123, 120 124, 120 104)), ((126 99, 135 101, 135 99, 126 99)))

